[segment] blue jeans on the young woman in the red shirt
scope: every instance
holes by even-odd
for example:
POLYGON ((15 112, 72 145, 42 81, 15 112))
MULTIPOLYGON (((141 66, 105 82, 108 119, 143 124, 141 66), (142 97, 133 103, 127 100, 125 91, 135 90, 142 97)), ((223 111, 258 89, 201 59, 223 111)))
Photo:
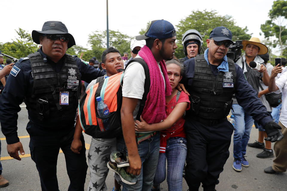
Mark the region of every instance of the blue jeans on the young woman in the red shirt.
POLYGON ((171 137, 167 139, 165 153, 159 153, 158 166, 153 179, 154 186, 161 184, 166 178, 167 161, 167 185, 169 191, 182 190, 182 172, 187 153, 187 141, 183 137, 171 137))

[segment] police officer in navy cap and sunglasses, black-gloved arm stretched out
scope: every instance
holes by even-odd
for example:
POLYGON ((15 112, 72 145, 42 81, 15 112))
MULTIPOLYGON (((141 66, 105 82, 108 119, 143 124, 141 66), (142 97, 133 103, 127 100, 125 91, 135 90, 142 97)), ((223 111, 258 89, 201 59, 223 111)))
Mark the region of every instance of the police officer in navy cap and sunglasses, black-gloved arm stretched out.
POLYGON ((204 55, 184 62, 191 109, 186 114, 187 167, 185 179, 190 191, 215 191, 219 174, 229 157, 233 125, 226 116, 232 107, 232 95, 244 110, 265 127, 267 140, 279 141, 280 126, 272 121, 256 91, 248 84, 242 69, 226 57, 233 44, 232 33, 226 27, 210 32, 204 55))

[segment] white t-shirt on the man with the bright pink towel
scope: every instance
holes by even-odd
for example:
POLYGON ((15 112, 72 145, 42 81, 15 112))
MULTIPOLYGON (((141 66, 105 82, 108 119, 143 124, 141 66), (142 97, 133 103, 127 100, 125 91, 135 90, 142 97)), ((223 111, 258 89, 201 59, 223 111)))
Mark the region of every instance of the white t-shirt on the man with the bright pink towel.
MULTIPOLYGON (((137 55, 136 58, 141 58, 141 56, 137 55)), ((159 70, 161 71, 161 67, 158 64, 159 70)), ((161 71, 161 76, 164 79, 164 74, 161 71)), ((129 66, 125 69, 124 75, 123 75, 123 88, 122 93, 123 97, 126 98, 137 98, 138 103, 135 107, 135 110, 133 112, 134 120, 136 120, 136 117, 138 115, 138 110, 140 107, 140 101, 144 94, 144 81, 146 79, 145 73, 144 73, 144 67, 137 61, 134 61, 129 64, 129 66)), ((164 83, 165 88, 165 83, 164 83)), ((144 132, 141 132, 144 133, 144 132)), ((147 132, 145 132, 147 133, 147 132)))

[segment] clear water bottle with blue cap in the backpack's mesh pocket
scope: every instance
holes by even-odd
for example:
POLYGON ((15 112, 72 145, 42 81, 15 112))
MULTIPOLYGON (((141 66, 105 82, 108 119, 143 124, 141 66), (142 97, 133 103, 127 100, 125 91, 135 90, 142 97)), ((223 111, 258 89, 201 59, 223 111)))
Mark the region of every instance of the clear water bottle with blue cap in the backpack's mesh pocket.
POLYGON ((98 119, 99 127, 101 131, 105 131, 109 129, 109 107, 105 104, 102 98, 96 97, 98 102, 97 111, 101 119, 98 119), (100 121, 99 121, 100 120, 100 121))

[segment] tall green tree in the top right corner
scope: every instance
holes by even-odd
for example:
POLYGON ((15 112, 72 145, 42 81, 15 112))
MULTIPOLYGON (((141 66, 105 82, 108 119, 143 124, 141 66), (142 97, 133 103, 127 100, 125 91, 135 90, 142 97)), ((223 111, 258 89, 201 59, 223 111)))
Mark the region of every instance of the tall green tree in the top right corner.
POLYGON ((261 30, 265 38, 273 40, 273 47, 280 47, 280 56, 283 56, 283 51, 287 47, 287 1, 277 0, 273 2, 272 9, 269 10, 270 20, 261 24, 261 30))

